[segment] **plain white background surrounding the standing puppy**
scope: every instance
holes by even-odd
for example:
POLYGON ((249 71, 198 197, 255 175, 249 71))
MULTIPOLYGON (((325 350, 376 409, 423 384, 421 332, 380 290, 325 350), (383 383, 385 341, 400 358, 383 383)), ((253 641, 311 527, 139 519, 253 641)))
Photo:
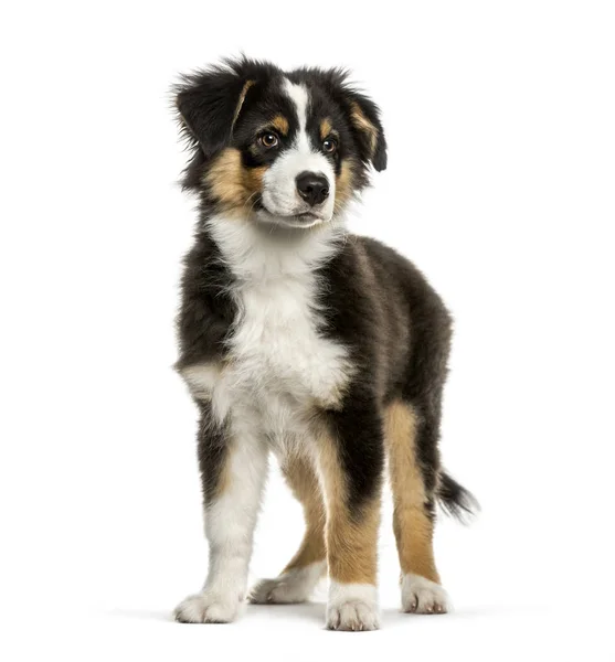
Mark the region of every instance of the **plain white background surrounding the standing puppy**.
MULTIPOLYGON (((7 2, 0 24, 2 658, 613 660, 613 3, 7 2), (347 65, 382 107, 352 227, 456 318, 443 455, 483 514, 438 526, 455 615, 397 613, 386 503, 381 631, 327 632, 321 601, 170 620, 206 551, 168 88, 240 51, 347 65)), ((274 471, 253 577, 301 530, 274 471)))

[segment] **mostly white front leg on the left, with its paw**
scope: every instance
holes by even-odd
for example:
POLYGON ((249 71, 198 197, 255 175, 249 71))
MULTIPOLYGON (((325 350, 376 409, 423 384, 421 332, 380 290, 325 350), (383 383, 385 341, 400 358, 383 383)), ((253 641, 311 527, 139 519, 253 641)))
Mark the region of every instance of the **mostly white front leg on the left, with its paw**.
POLYGON ((218 423, 200 404, 199 462, 203 483, 209 573, 200 594, 176 609, 181 622, 234 620, 247 589, 252 542, 267 472, 267 448, 250 417, 229 413, 218 423))

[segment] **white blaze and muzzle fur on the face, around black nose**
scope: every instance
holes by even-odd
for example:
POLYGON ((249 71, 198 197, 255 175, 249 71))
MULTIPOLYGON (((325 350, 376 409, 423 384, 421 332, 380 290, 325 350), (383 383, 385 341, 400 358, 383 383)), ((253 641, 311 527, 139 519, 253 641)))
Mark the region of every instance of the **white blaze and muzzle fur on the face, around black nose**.
POLYGON ((293 102, 299 127, 294 142, 267 170, 263 179, 263 204, 275 216, 291 216, 305 212, 318 214, 321 221, 330 221, 336 197, 336 173, 331 162, 317 150, 306 132, 309 94, 305 86, 284 84, 286 94, 293 102), (310 207, 297 192, 297 175, 301 172, 324 174, 329 181, 329 196, 318 207, 310 207))

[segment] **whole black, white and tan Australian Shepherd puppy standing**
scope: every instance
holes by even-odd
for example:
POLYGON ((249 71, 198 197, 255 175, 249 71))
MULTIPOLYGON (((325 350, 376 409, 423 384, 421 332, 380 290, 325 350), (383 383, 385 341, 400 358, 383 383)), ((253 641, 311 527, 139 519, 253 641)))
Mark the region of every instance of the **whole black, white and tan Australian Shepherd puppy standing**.
POLYGON ((370 167, 386 167, 378 107, 339 70, 250 60, 188 75, 176 92, 191 149, 183 185, 200 201, 177 367, 200 410, 210 546, 204 587, 177 620, 237 617, 271 451, 306 533, 252 602, 301 602, 328 574, 327 626, 379 627, 388 458, 403 610, 445 612, 435 504, 473 505, 438 456, 450 317, 407 259, 343 223, 370 167))

